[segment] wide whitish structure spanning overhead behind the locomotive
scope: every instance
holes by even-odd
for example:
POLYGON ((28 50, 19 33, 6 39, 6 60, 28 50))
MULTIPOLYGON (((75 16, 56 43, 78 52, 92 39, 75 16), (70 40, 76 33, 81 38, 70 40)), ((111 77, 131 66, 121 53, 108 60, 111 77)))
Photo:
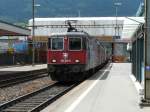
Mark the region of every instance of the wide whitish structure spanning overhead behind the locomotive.
MULTIPOLYGON (((91 36, 118 42, 129 42, 136 29, 144 23, 144 17, 62 17, 62 18, 35 18, 35 36, 50 36, 51 33, 67 31, 67 21, 79 31, 85 31, 91 36)), ((32 30, 32 19, 29 20, 32 30)))

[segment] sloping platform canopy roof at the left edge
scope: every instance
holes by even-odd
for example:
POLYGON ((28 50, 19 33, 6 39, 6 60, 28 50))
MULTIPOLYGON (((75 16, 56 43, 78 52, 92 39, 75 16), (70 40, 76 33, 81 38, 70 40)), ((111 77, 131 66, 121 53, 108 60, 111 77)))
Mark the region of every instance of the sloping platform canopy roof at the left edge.
POLYGON ((28 36, 28 35, 31 35, 31 31, 29 29, 0 20, 0 36, 28 36))

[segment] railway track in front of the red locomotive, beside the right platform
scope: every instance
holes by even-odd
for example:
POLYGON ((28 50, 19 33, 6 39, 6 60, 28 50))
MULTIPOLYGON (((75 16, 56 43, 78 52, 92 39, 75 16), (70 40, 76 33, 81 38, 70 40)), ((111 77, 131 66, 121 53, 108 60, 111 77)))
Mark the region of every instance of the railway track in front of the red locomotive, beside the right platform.
POLYGON ((0 105, 0 112, 39 112, 76 85, 54 83, 0 105))

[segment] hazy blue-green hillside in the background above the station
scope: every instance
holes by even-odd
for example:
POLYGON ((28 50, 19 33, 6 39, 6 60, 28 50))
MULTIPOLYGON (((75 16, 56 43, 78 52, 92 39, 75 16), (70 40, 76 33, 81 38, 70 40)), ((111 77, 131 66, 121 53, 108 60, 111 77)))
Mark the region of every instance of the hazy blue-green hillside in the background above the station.
MULTIPOLYGON (((115 0, 35 0, 36 17, 115 16, 115 0)), ((118 16, 135 15, 142 0, 118 0, 118 16)), ((27 22, 32 18, 32 0, 0 0, 0 19, 27 22)))

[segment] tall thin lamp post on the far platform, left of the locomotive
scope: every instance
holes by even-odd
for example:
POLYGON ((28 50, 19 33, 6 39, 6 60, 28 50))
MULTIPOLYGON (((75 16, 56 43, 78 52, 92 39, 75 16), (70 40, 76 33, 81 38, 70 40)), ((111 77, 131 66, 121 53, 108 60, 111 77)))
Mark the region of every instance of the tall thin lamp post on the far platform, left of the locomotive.
POLYGON ((32 0, 32 66, 35 65, 35 7, 39 7, 40 4, 35 4, 35 0, 32 0))

